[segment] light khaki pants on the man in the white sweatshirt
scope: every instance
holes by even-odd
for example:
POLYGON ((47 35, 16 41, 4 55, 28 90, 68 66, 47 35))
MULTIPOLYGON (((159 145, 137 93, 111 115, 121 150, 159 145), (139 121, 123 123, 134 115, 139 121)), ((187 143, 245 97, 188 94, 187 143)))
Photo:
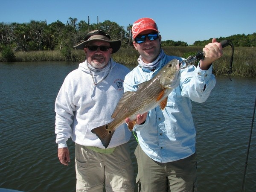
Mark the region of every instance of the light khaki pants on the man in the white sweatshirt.
POLYGON ((93 151, 76 143, 77 192, 133 192, 134 168, 128 144, 115 148, 111 154, 93 151))

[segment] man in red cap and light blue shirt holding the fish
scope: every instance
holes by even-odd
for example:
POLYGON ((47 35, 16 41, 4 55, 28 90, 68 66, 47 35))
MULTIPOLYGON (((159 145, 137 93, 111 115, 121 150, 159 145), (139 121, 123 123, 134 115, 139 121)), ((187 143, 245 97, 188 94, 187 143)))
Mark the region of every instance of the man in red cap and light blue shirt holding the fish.
MULTIPOLYGON (((161 35, 151 18, 141 18, 132 26, 133 45, 140 53, 138 66, 125 76, 125 91, 136 91, 137 85, 150 80, 172 59, 161 49, 161 35)), ((204 60, 198 67, 190 65, 180 70, 180 84, 168 96, 167 105, 138 114, 139 145, 135 150, 138 163, 136 182, 139 191, 197 191, 197 159, 192 104, 205 102, 215 86, 212 62, 222 55, 221 44, 212 39, 206 45, 204 60)), ((126 123, 129 119, 126 119, 126 123)))

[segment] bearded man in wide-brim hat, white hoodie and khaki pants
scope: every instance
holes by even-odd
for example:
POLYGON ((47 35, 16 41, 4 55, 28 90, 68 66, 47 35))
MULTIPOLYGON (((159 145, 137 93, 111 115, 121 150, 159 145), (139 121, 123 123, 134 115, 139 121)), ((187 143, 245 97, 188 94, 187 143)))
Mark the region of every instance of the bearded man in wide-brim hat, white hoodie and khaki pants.
POLYGON ((101 30, 89 32, 75 47, 86 60, 65 78, 55 102, 55 134, 58 158, 70 162, 67 140, 75 142, 76 191, 134 191, 134 170, 129 146, 131 132, 125 124, 116 129, 105 148, 91 130, 111 122, 130 71, 113 61, 121 41, 111 41, 101 30))

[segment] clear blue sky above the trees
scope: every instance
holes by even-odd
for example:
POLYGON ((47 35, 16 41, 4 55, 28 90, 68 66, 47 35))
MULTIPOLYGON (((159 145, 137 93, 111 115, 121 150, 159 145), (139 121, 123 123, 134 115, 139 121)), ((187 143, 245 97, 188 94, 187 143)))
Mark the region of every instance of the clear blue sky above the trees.
POLYGON ((195 41, 256 32, 256 0, 1 0, 0 22, 67 23, 69 17, 125 28, 141 17, 157 23, 162 40, 195 41))

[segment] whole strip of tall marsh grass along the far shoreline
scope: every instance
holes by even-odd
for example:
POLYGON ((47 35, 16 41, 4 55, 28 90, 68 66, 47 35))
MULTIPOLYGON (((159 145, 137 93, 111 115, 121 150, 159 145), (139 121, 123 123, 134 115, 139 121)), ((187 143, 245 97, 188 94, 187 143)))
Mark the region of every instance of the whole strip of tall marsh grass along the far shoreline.
MULTIPOLYGON (((167 55, 177 55, 188 58, 189 55, 195 55, 203 47, 163 47, 167 55)), ((73 62, 82 62, 85 60, 83 50, 73 50, 71 52, 73 62)), ((216 76, 227 76, 230 70, 230 57, 232 55, 231 47, 223 49, 223 56, 213 63, 213 73, 216 76)), ((137 65, 139 53, 133 47, 121 47, 118 52, 112 55, 114 61, 124 65, 137 65)), ((235 47, 233 58, 233 73, 230 76, 256 76, 256 49, 255 47, 235 47)), ((60 50, 54 51, 31 51, 15 52, 16 61, 66 61, 60 50)), ((0 54, 0 61, 3 61, 0 54)))

